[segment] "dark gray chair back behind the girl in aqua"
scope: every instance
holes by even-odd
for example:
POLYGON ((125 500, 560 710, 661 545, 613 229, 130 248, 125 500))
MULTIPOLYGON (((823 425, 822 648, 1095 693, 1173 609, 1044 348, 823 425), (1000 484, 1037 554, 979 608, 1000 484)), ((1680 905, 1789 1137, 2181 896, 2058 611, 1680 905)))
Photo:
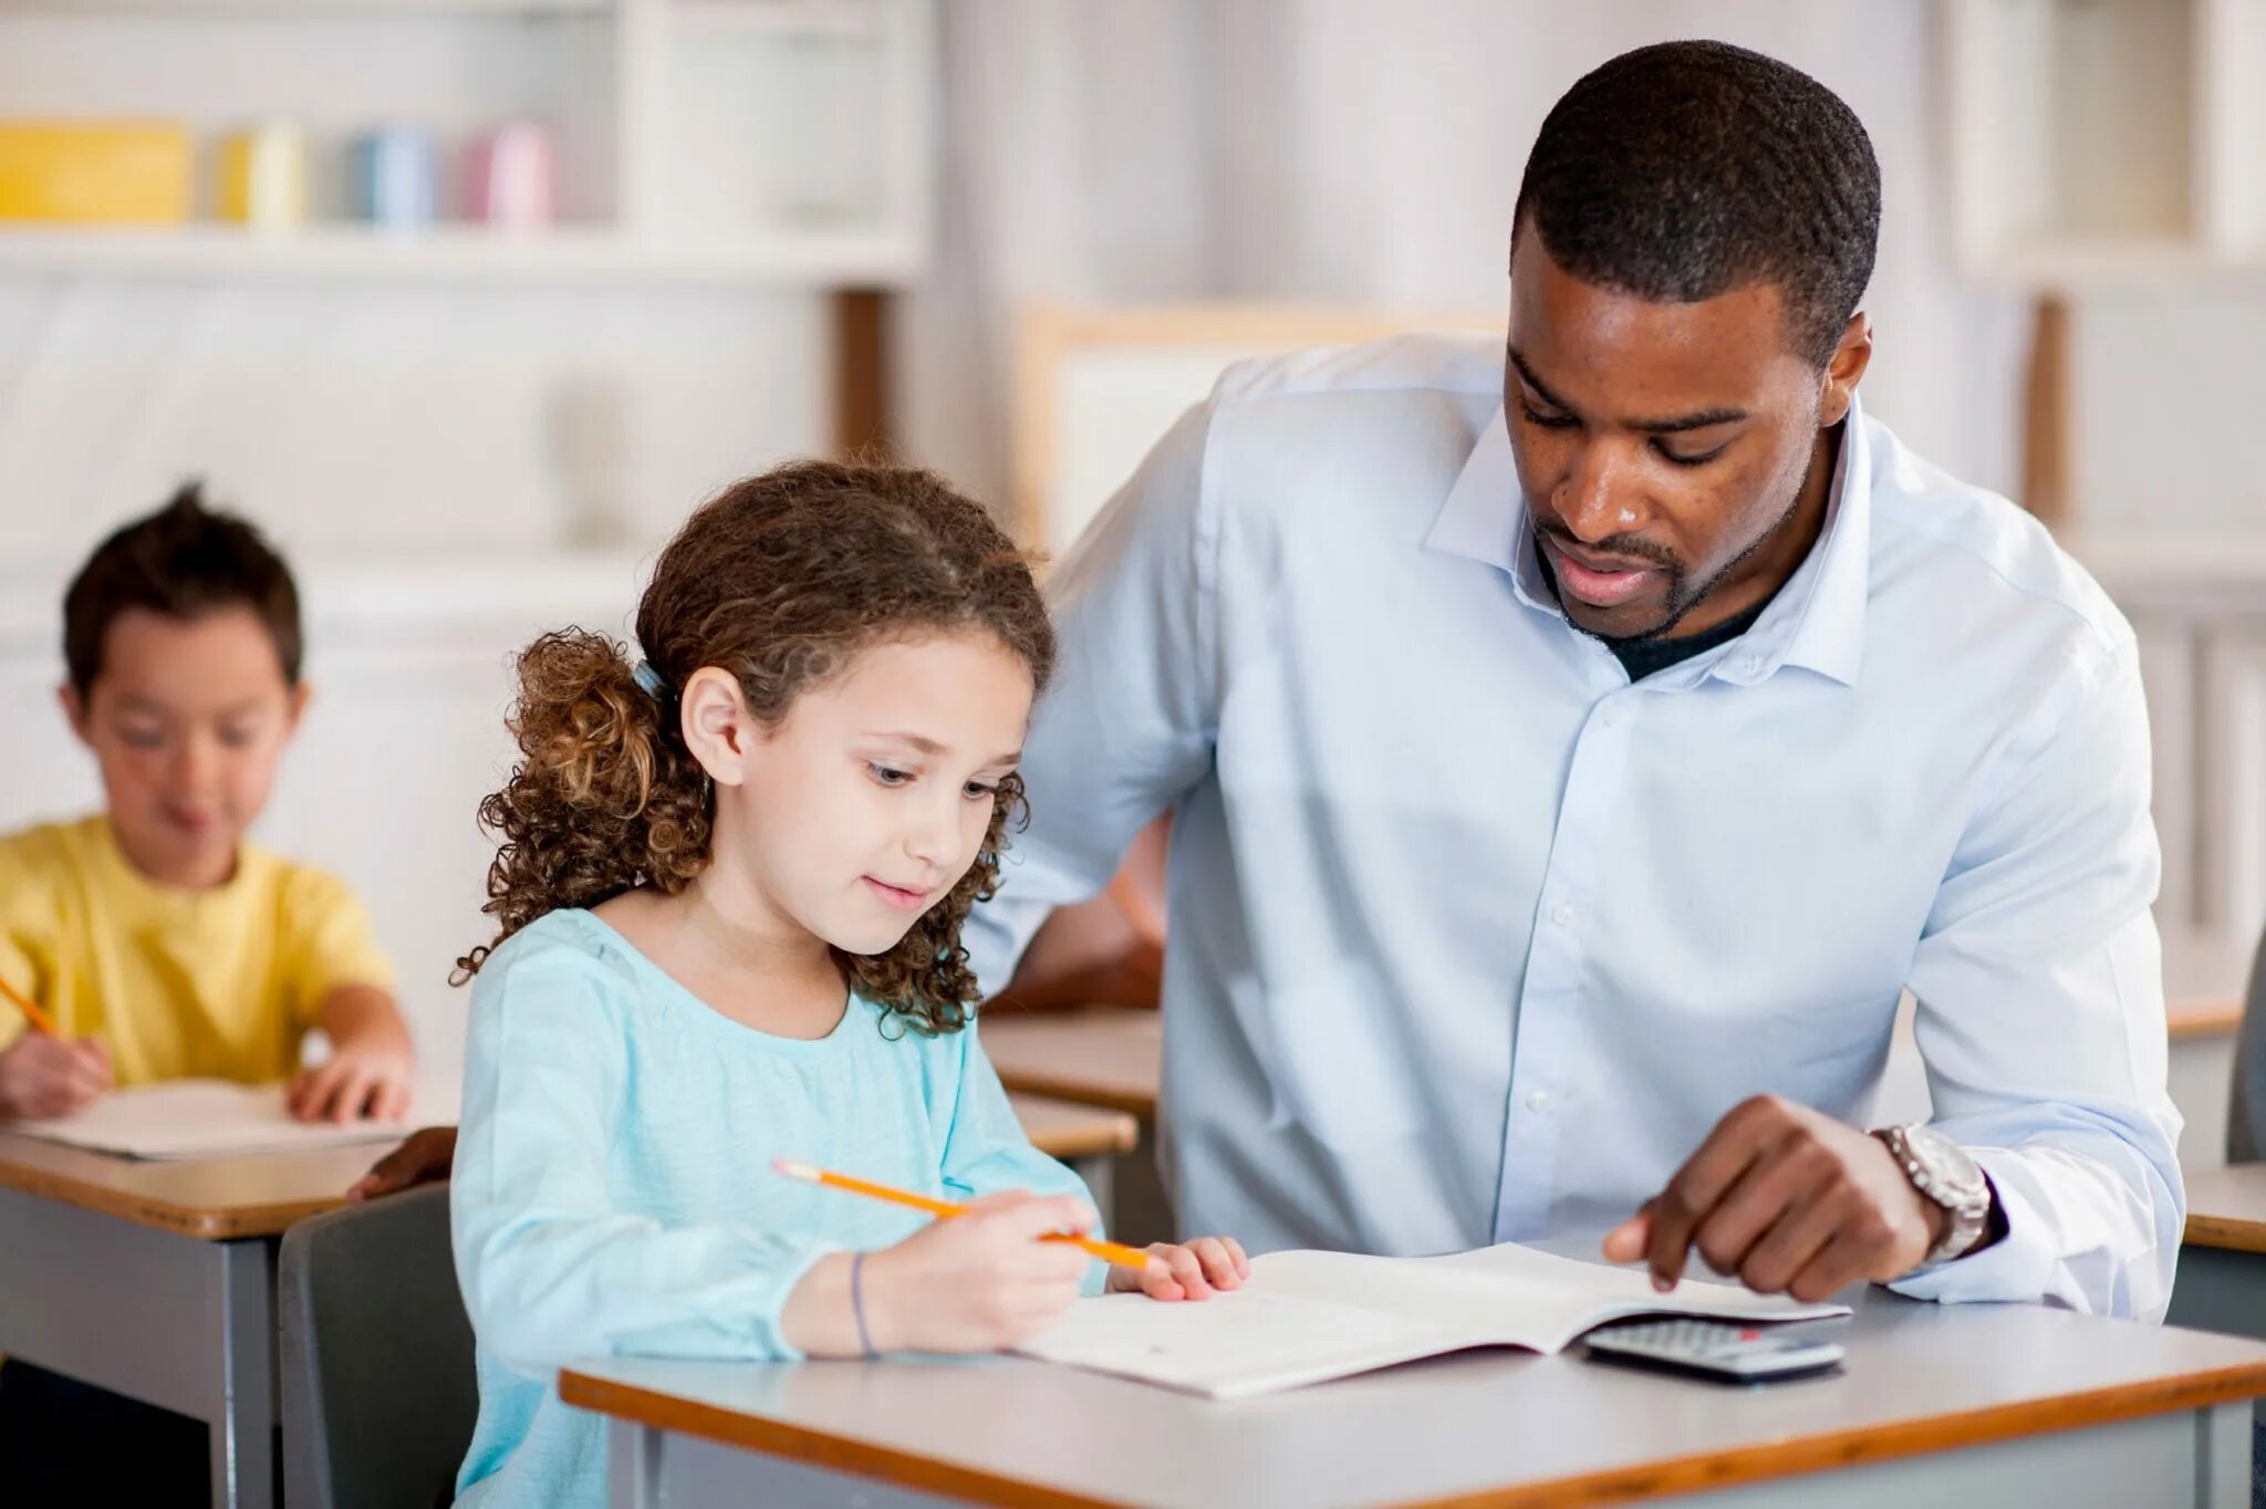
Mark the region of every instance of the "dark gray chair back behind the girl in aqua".
POLYGON ((276 1319, 290 1509, 446 1504, 480 1409, 449 1185, 283 1233, 276 1319))

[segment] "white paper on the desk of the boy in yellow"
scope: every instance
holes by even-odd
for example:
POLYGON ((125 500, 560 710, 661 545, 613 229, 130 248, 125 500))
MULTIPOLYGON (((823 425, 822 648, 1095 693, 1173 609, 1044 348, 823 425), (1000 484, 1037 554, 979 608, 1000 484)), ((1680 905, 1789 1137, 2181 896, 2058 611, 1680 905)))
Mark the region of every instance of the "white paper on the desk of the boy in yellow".
POLYGON ((172 1079, 111 1090, 75 1117, 16 1122, 14 1133, 125 1158, 220 1158, 290 1153, 353 1142, 394 1142, 412 1126, 458 1119, 460 1090, 419 1083, 403 1122, 295 1122, 283 1085, 238 1085, 224 1079, 172 1079))

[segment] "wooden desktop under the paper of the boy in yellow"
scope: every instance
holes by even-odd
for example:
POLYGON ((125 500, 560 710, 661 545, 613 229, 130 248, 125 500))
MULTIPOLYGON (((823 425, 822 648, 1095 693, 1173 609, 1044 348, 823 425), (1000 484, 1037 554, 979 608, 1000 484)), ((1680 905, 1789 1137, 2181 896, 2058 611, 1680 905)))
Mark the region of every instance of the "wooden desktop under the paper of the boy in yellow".
POLYGON ((0 1133, 0 1190, 100 1210, 184 1237, 272 1237, 292 1221, 347 1203, 390 1142, 143 1162, 0 1133))

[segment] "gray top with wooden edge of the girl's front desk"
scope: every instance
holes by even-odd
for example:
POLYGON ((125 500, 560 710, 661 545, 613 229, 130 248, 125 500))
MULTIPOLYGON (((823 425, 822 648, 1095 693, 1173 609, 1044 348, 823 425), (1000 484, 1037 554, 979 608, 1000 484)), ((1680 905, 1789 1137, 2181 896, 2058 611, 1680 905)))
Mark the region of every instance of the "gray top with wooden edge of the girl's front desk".
POLYGON ((1210 1403, 1017 1357, 562 1373, 580 1407, 993 1504, 1588 1504, 2266 1393, 2266 1346, 1854 1296, 1847 1371, 1729 1389, 1491 1350, 1210 1403))

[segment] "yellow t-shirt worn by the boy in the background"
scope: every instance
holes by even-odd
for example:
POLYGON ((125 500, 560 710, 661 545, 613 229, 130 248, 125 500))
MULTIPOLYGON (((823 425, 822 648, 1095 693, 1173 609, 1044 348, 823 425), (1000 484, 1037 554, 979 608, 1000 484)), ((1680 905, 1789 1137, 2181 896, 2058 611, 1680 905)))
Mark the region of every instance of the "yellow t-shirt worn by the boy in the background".
MULTIPOLYGON (((174 890, 100 816, 0 838, 0 974, 66 1035, 100 1033, 120 1085, 286 1079, 333 990, 392 990, 338 879, 247 843, 227 884, 174 890)), ((0 997, 0 1047, 23 1031, 0 997)))

